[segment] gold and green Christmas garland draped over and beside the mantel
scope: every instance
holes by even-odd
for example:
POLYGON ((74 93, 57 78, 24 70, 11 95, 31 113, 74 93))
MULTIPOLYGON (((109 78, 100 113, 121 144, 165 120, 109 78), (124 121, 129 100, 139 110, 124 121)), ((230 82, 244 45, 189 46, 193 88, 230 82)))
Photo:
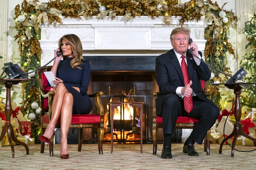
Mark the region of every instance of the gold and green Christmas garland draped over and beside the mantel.
MULTIPOLYGON (((136 16, 149 16, 152 19, 162 17, 166 24, 171 24, 172 16, 180 16, 179 22, 182 26, 184 22, 191 20, 199 21, 202 16, 207 22, 212 21, 212 25, 206 28, 205 38, 207 39, 205 48, 205 58, 207 63, 226 73, 226 52, 235 53, 232 45, 228 42, 229 28, 236 29, 237 17, 232 11, 225 11, 211 0, 192 0, 184 4, 177 4, 173 0, 80 0, 72 3, 61 2, 60 0, 50 0, 48 3, 38 4, 38 0, 24 0, 21 6, 15 7, 16 25, 11 29, 16 29, 18 34, 19 52, 21 55, 21 67, 25 72, 35 70, 40 66, 41 48, 40 23, 62 23, 60 16, 65 18, 91 18, 96 16, 99 19, 116 16, 123 16, 127 21, 136 16), (226 16, 225 16, 226 15, 226 16)), ((224 4, 225 5, 225 4, 224 4)), ((213 71, 214 79, 210 83, 223 82, 225 77, 219 76, 218 72, 213 71)), ((37 73, 33 75, 37 77, 37 73)), ((32 77, 33 77, 32 76, 32 77)), ((31 108, 31 103, 39 103, 38 81, 23 84, 22 86, 20 110, 25 115, 27 112, 35 112, 31 108)), ((218 88, 209 86, 211 100, 221 108, 221 96, 218 88), (218 102, 217 102, 218 101, 218 102)), ((32 118, 32 116, 31 116, 32 118)), ((31 120, 32 136, 38 139, 40 133, 40 116, 31 120)), ((37 141, 36 141, 37 142, 37 141)))

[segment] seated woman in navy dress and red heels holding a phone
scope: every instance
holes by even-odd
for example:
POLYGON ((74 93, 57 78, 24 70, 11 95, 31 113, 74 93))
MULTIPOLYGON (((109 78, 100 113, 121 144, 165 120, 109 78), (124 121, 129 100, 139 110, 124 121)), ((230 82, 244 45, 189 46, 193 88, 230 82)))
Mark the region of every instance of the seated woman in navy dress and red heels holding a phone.
POLYGON ((71 124, 72 114, 89 114, 92 102, 87 94, 90 80, 90 63, 83 59, 82 43, 74 34, 60 38, 59 48, 55 50, 55 60, 51 71, 57 85, 52 103, 52 117, 45 130, 40 135, 42 142, 49 143, 54 134, 55 123, 61 120, 60 158, 69 158, 67 133, 71 124), (61 49, 61 50, 60 50, 61 49), (57 57, 57 51, 61 56, 57 57))

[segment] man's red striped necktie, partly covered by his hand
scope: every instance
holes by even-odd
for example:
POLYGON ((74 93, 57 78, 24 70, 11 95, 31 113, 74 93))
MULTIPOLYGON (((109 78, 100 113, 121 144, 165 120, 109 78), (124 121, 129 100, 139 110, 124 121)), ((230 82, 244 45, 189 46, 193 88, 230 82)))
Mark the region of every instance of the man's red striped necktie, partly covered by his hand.
MULTIPOLYGON (((187 64, 185 62, 185 56, 181 56, 182 61, 181 61, 181 70, 183 73, 183 78, 184 78, 184 84, 185 86, 189 84, 189 74, 188 74, 188 68, 187 64)), ((189 97, 184 97, 184 109, 189 113, 193 109, 193 101, 192 101, 192 94, 189 97)))

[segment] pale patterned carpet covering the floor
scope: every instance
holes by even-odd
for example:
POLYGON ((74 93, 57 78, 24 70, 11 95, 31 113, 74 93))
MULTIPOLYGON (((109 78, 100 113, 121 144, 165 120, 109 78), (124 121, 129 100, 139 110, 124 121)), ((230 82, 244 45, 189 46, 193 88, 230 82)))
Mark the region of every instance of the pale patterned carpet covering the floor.
MULTIPOLYGON (((224 145, 222 154, 218 153, 219 144, 211 144, 210 155, 204 152, 204 145, 195 145, 198 157, 182 153, 183 144, 172 144, 172 159, 162 159, 162 145, 158 145, 157 155, 152 154, 152 144, 103 144, 103 155, 99 155, 97 144, 83 144, 82 151, 77 145, 69 145, 69 159, 60 159, 60 145, 54 145, 54 156, 49 150, 40 153, 40 145, 28 145, 29 155, 22 145, 14 146, 15 158, 12 158, 10 146, 0 148, 0 169, 255 169, 256 151, 238 152, 231 157, 231 148, 224 145)), ((235 146, 238 150, 256 149, 253 146, 235 146)))

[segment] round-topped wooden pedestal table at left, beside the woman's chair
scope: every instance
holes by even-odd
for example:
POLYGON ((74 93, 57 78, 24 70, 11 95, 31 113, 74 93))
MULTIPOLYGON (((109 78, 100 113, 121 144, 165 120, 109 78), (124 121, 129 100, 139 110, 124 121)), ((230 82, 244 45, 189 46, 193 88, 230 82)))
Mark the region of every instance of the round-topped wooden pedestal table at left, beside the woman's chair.
MULTIPOLYGON (((12 140, 18 144, 23 145, 26 148, 27 155, 28 155, 28 145, 25 143, 19 141, 13 131, 13 127, 11 126, 11 114, 12 114, 12 108, 11 108, 11 87, 13 84, 19 84, 19 83, 26 83, 29 81, 33 81, 33 79, 0 79, 0 84, 5 84, 6 87, 6 104, 4 108, 5 117, 6 117, 6 123, 2 129, 2 133, 0 136, 0 141, 3 140, 5 133, 7 133, 8 141, 11 146, 11 152, 12 152, 12 158, 14 158, 14 147, 12 144, 12 140)), ((6 139, 7 140, 7 139, 6 139)))

